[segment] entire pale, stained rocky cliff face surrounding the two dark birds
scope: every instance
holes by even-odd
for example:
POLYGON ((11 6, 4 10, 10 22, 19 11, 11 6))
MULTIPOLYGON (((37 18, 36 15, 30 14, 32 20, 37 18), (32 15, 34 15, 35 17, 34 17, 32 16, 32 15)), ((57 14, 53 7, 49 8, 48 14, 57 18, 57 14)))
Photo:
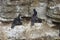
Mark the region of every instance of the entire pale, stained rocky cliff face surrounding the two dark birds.
MULTIPOLYGON (((0 20, 12 21, 18 16, 18 14, 21 14, 21 16, 31 17, 33 9, 36 9, 38 18, 45 19, 47 21, 48 18, 46 15, 49 17, 51 16, 48 20, 50 23, 52 18, 57 18, 57 14, 60 14, 60 3, 57 0, 53 0, 52 2, 48 0, 0 0, 0 20)), ((23 20, 22 23, 22 25, 17 25, 14 29, 11 29, 12 23, 1 22, 1 40, 33 40, 36 38, 43 38, 41 40, 45 40, 44 38, 46 38, 46 40, 52 38, 51 40, 53 40, 54 37, 59 36, 59 30, 51 28, 52 24, 49 25, 49 23, 44 20, 42 23, 35 23, 34 26, 31 26, 31 21, 29 20, 23 20)))

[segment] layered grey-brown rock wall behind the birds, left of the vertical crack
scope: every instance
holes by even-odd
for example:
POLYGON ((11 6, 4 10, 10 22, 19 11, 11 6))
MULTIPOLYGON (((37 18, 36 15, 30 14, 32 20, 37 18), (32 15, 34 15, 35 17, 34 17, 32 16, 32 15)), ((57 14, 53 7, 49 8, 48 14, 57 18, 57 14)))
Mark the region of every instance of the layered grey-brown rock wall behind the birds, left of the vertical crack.
POLYGON ((33 9, 35 8, 38 12, 38 17, 43 18, 46 13, 46 6, 47 3, 45 0, 2 0, 0 17, 3 19, 13 19, 17 17, 18 14, 31 17, 33 9))

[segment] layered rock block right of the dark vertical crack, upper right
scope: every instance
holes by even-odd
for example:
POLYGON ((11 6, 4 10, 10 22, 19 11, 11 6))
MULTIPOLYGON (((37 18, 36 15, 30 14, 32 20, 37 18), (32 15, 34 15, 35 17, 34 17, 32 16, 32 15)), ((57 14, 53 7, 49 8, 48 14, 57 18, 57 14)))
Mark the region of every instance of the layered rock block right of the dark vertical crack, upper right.
POLYGON ((60 22, 60 1, 52 0, 49 2, 47 16, 54 22, 60 22))

